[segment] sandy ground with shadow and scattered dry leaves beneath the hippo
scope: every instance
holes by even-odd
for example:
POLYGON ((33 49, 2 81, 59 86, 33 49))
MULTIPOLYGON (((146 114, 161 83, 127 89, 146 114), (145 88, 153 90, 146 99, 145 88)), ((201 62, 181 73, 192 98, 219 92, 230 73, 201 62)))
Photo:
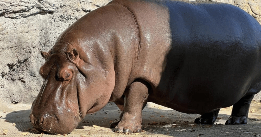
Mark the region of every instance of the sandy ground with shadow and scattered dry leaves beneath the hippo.
POLYGON ((114 133, 109 123, 118 119, 121 111, 108 103, 95 114, 86 115, 79 126, 68 135, 41 134, 29 122, 31 104, 0 103, 0 137, 220 137, 261 136, 261 103, 252 102, 247 125, 224 125, 232 107, 220 110, 214 125, 198 125, 198 114, 185 114, 149 102, 143 110, 143 132, 114 133))

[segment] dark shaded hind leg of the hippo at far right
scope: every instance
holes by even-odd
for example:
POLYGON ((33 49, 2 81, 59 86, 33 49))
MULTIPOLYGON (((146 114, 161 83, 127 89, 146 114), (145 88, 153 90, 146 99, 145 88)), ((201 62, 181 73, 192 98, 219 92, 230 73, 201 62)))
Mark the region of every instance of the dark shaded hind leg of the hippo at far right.
POLYGON ((261 90, 261 82, 251 86, 247 91, 246 95, 242 97, 233 106, 231 116, 226 121, 226 125, 238 125, 246 124, 248 117, 248 110, 250 108, 251 101, 254 94, 257 94, 261 90))

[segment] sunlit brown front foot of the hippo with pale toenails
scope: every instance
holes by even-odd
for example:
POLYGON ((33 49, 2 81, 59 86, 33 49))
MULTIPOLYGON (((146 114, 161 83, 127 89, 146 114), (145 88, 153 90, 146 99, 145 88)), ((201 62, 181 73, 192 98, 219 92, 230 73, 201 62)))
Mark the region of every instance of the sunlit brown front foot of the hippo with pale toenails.
MULTIPOLYGON (((122 113, 123 114, 123 113, 122 113)), ((121 114, 121 115, 122 115, 121 114)), ((141 119, 137 119, 136 116, 123 114, 123 117, 110 123, 110 128, 114 128, 114 132, 117 133, 140 133, 141 132, 141 119)))

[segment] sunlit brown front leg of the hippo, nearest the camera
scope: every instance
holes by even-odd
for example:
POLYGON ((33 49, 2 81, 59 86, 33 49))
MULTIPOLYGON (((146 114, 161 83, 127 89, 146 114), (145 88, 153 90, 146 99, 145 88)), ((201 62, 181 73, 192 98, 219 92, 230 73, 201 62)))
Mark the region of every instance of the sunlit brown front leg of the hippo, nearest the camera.
MULTIPOLYGON (((124 106, 115 132, 140 133, 142 121, 142 109, 148 100, 148 88, 143 81, 133 82, 124 92, 124 106)), ((114 124, 115 124, 114 122, 114 124)))

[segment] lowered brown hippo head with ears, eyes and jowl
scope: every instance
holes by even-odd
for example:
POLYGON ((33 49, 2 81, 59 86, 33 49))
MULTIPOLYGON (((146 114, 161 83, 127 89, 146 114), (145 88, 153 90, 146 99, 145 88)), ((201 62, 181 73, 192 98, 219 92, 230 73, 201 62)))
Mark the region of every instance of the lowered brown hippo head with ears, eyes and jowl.
POLYGON ((29 116, 38 131, 67 134, 86 114, 108 103, 115 82, 110 72, 114 71, 106 70, 108 66, 103 67, 94 55, 81 53, 68 44, 41 52, 46 60, 39 70, 44 82, 29 116))

